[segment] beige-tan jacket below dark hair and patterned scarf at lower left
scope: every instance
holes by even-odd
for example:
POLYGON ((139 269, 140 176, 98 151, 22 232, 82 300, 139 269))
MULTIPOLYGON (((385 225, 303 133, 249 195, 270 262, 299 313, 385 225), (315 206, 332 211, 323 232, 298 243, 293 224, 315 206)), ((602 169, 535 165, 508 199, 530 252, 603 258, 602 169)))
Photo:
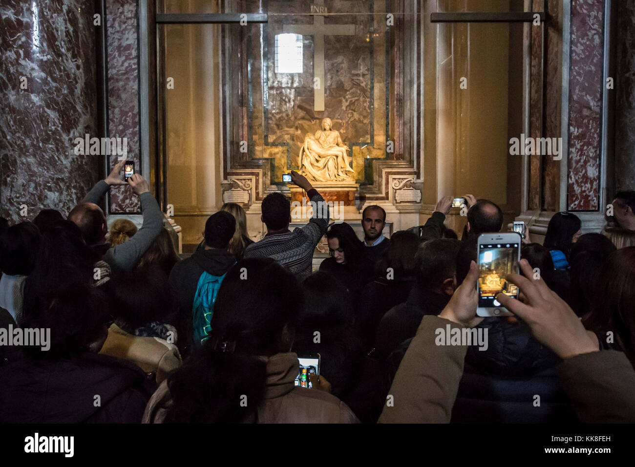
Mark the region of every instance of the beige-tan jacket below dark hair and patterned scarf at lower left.
POLYGON ((108 337, 99 353, 128 360, 146 373, 156 373, 157 384, 181 366, 181 356, 174 344, 158 337, 138 337, 115 323, 110 325, 108 337))

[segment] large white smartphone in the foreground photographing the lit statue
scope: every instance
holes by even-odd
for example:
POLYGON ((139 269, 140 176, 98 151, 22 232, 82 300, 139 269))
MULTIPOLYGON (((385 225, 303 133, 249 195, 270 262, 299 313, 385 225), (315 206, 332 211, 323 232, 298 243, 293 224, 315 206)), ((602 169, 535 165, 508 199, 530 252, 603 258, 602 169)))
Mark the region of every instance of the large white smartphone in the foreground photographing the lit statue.
POLYGON ((509 316, 511 311, 497 301, 505 294, 518 299, 518 286, 511 283, 509 274, 518 274, 521 237, 518 232, 480 234, 476 243, 479 278, 478 316, 509 316))

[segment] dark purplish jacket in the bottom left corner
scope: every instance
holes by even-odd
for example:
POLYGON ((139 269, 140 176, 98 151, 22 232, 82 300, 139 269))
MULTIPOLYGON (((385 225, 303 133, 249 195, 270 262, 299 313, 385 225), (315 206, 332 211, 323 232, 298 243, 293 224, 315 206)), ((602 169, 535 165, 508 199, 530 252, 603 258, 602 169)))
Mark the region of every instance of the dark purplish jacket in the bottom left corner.
POLYGON ((156 389, 133 363, 98 353, 22 358, 0 381, 0 423, 141 423, 156 389))

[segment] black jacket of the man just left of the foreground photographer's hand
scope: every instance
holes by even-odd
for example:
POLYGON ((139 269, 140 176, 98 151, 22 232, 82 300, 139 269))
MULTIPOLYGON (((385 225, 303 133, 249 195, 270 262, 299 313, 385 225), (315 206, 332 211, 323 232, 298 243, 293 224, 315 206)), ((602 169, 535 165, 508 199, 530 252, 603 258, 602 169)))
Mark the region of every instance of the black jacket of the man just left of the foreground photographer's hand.
POLYGON ((422 290, 415 284, 408 300, 391 308, 379 322, 375 337, 377 358, 386 358, 401 342, 415 337, 424 315, 438 315, 448 301, 448 295, 422 290))

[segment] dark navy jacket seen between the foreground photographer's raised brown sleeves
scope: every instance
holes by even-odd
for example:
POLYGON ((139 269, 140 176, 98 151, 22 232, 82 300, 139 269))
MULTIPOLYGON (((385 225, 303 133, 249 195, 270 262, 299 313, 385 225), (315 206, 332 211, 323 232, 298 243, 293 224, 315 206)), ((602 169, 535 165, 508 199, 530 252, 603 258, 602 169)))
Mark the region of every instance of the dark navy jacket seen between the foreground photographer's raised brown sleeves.
MULTIPOLYGON (((479 327, 488 330, 488 348, 467 349, 451 423, 577 422, 558 379, 558 357, 531 337, 525 323, 485 318, 479 327)), ((411 340, 387 359, 390 382, 411 340)))

